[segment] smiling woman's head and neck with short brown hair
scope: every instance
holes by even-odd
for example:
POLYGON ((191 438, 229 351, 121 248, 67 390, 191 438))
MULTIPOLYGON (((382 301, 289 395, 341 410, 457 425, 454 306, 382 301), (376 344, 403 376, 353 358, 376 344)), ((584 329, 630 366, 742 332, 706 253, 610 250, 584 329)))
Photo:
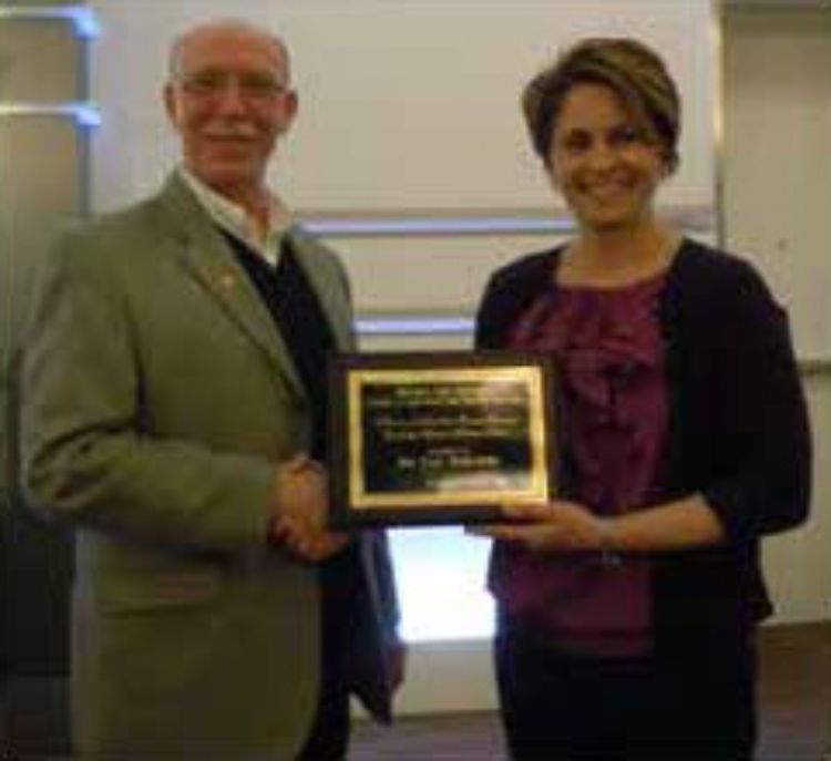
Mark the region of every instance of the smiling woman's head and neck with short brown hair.
POLYGON ((581 228, 562 281, 626 284, 666 267, 673 246, 654 196, 678 166, 679 110, 663 61, 633 40, 586 40, 525 88, 534 151, 581 228), (627 239, 637 245, 625 256, 598 250, 627 239))

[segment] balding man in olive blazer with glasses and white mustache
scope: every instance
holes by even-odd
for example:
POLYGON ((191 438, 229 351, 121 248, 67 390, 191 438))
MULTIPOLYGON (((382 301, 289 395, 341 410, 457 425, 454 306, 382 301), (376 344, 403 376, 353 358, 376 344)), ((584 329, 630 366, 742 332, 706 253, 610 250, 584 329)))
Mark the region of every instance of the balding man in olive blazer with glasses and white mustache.
POLYGON ((265 185, 297 95, 279 39, 184 33, 164 103, 182 165, 68 236, 29 326, 30 498, 76 527, 81 758, 341 759, 347 691, 400 679, 382 535, 325 527, 327 356, 343 270, 265 185))

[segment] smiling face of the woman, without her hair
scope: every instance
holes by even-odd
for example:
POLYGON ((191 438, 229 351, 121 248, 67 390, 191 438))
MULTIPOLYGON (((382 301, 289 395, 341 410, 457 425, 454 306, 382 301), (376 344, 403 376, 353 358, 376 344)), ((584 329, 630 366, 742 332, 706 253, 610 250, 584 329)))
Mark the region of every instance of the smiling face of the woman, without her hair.
POLYGON ((553 128, 547 172, 581 227, 620 229, 652 217, 655 189, 666 175, 661 147, 614 90, 575 85, 553 128))

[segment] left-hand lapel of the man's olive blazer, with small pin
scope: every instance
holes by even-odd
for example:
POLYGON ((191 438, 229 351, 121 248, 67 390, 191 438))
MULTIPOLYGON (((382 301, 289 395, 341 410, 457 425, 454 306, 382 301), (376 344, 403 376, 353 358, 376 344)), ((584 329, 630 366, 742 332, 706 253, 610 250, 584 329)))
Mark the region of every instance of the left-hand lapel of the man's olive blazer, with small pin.
POLYGON ((247 274, 184 182, 172 175, 160 196, 184 268, 268 357, 299 397, 306 392, 291 356, 247 274))

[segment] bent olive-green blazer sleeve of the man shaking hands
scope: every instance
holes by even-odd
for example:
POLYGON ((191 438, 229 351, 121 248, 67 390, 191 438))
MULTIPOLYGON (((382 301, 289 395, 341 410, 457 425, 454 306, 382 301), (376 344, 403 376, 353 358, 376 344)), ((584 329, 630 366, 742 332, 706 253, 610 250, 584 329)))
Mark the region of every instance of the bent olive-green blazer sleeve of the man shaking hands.
POLYGON ((116 538, 263 545, 273 463, 141 433, 137 341, 104 248, 76 232, 40 280, 21 364, 24 492, 41 511, 116 538))

